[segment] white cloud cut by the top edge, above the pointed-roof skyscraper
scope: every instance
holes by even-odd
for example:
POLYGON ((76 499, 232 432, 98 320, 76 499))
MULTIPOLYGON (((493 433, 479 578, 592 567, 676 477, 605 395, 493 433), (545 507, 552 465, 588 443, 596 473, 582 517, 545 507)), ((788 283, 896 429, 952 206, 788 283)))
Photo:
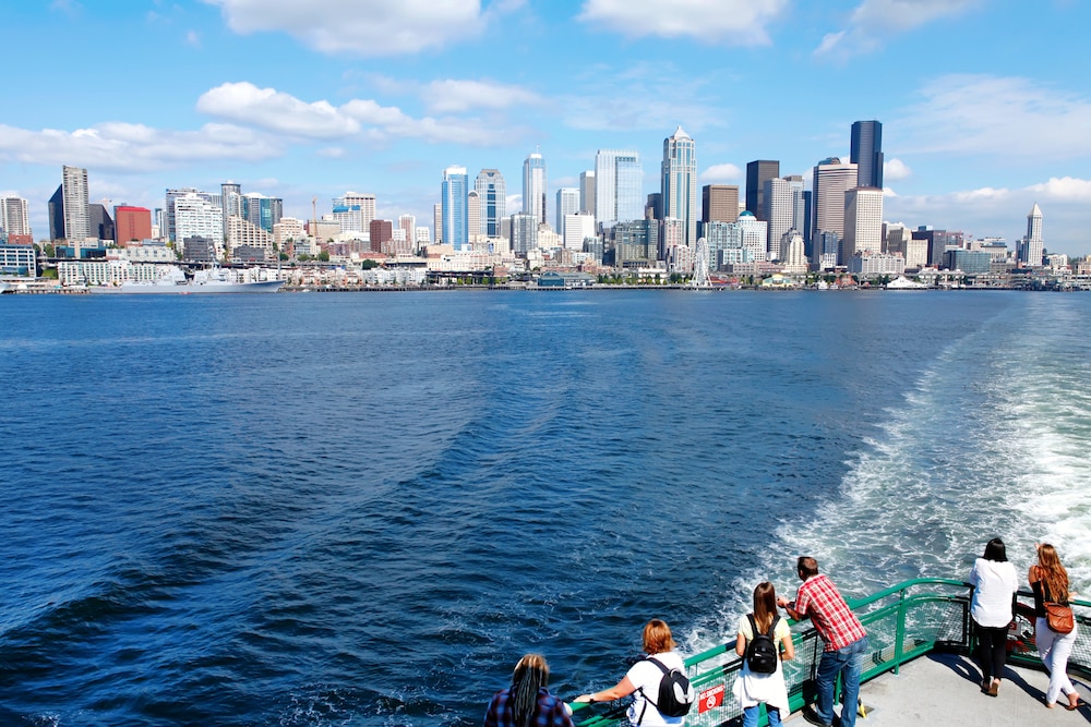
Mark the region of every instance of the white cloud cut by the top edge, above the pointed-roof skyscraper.
POLYGON ((788 0, 586 0, 577 20, 631 37, 762 46, 787 8, 788 0))

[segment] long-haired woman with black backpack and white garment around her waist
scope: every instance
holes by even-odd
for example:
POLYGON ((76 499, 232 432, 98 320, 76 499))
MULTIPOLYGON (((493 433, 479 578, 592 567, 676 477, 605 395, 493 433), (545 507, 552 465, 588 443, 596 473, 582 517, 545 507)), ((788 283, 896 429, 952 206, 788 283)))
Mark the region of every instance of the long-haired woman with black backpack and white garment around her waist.
POLYGON ((781 662, 795 658, 795 647, 792 645, 792 631, 788 621, 777 613, 777 592, 768 581, 758 583, 754 589, 754 611, 739 619, 735 653, 743 657, 743 669, 734 686, 735 698, 743 707, 743 727, 757 727, 758 705, 763 703, 769 717, 769 727, 777 727, 781 724, 780 715, 788 715, 791 711, 781 662), (759 674, 751 669, 747 647, 756 637, 769 634, 770 631, 776 650, 774 670, 759 674))

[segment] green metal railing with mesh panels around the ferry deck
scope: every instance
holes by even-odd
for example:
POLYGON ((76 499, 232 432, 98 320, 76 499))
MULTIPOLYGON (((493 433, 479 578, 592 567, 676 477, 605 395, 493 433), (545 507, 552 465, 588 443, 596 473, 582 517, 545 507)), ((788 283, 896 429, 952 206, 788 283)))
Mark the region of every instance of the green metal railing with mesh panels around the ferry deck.
MULTIPOLYGON (((865 656, 861 681, 868 681, 933 651, 970 654, 974 646, 970 619, 970 584, 948 579, 916 579, 885 589, 849 605, 867 629, 870 652, 865 656)), ((1091 676, 1091 618, 1081 613, 1091 603, 1074 601, 1076 620, 1081 629, 1069 671, 1091 676)), ((1016 621, 1009 635, 1011 664, 1042 668, 1034 645, 1033 596, 1019 593, 1016 621)), ((794 622, 793 622, 794 625, 794 622)), ((818 633, 806 628, 793 630, 795 658, 784 666, 784 681, 792 712, 814 701, 814 675, 822 657, 818 633)), ((733 625, 732 625, 733 628, 733 625)), ((686 727, 721 727, 741 724, 742 706, 732 686, 742 669, 735 642, 723 643, 685 659, 688 677, 697 691, 698 703, 686 716, 686 727)), ((578 727, 627 725, 626 704, 573 704, 578 727)), ((765 715, 762 724, 766 724, 765 715)))

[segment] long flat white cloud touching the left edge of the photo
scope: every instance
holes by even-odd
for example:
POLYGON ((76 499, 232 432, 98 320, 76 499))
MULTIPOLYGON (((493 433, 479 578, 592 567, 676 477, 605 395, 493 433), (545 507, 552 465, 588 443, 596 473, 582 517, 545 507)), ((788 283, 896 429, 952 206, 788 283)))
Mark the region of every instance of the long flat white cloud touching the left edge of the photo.
POLYGON ((268 137, 231 124, 170 131, 109 122, 72 132, 0 124, 0 158, 24 163, 135 172, 209 159, 260 161, 280 154, 281 148, 268 137))

